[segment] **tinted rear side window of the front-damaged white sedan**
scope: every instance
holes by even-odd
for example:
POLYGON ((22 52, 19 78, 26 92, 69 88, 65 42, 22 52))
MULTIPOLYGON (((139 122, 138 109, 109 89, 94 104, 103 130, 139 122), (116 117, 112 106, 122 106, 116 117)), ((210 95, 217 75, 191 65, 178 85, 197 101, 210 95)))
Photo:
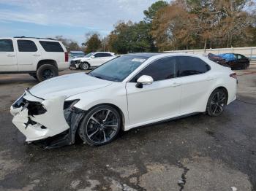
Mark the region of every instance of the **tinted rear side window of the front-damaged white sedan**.
POLYGON ((186 77, 195 74, 203 74, 210 70, 210 66, 200 58, 190 56, 178 56, 177 77, 186 77))

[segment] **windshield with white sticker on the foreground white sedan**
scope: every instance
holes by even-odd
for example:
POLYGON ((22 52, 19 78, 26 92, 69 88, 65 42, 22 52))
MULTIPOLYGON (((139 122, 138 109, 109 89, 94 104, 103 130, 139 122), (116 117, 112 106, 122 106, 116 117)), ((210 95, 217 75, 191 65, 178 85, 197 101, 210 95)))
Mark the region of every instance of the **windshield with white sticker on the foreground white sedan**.
POLYGON ((132 71, 138 68, 147 58, 136 55, 123 55, 99 66, 89 73, 92 77, 122 82, 132 71))

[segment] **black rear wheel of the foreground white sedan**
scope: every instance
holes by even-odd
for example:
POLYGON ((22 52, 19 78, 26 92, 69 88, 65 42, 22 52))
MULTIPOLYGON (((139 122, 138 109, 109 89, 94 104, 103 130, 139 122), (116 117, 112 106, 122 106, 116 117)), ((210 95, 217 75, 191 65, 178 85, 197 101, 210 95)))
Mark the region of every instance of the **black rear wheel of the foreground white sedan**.
POLYGON ((208 98, 206 112, 210 116, 217 117, 222 114, 226 105, 227 93, 225 90, 218 88, 208 98))

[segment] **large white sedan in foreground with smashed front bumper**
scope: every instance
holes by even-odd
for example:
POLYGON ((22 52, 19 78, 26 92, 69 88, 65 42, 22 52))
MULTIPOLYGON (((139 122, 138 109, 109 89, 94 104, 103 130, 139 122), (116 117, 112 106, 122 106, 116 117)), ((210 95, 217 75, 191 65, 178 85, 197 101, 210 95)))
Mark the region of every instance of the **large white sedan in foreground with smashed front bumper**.
POLYGON ((89 74, 48 79, 18 98, 12 122, 46 147, 108 144, 118 132, 198 112, 222 114, 236 99, 236 73, 200 55, 122 55, 89 74))

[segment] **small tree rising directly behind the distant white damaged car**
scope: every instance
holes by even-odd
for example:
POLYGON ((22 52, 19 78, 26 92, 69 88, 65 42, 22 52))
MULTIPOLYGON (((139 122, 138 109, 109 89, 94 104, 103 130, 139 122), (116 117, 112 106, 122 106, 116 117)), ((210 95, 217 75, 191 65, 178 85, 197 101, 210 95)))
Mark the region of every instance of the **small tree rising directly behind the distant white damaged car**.
POLYGON ((87 39, 86 42, 83 43, 86 46, 86 52, 95 52, 99 50, 102 46, 102 42, 99 38, 99 34, 97 33, 88 33, 86 34, 87 39))

